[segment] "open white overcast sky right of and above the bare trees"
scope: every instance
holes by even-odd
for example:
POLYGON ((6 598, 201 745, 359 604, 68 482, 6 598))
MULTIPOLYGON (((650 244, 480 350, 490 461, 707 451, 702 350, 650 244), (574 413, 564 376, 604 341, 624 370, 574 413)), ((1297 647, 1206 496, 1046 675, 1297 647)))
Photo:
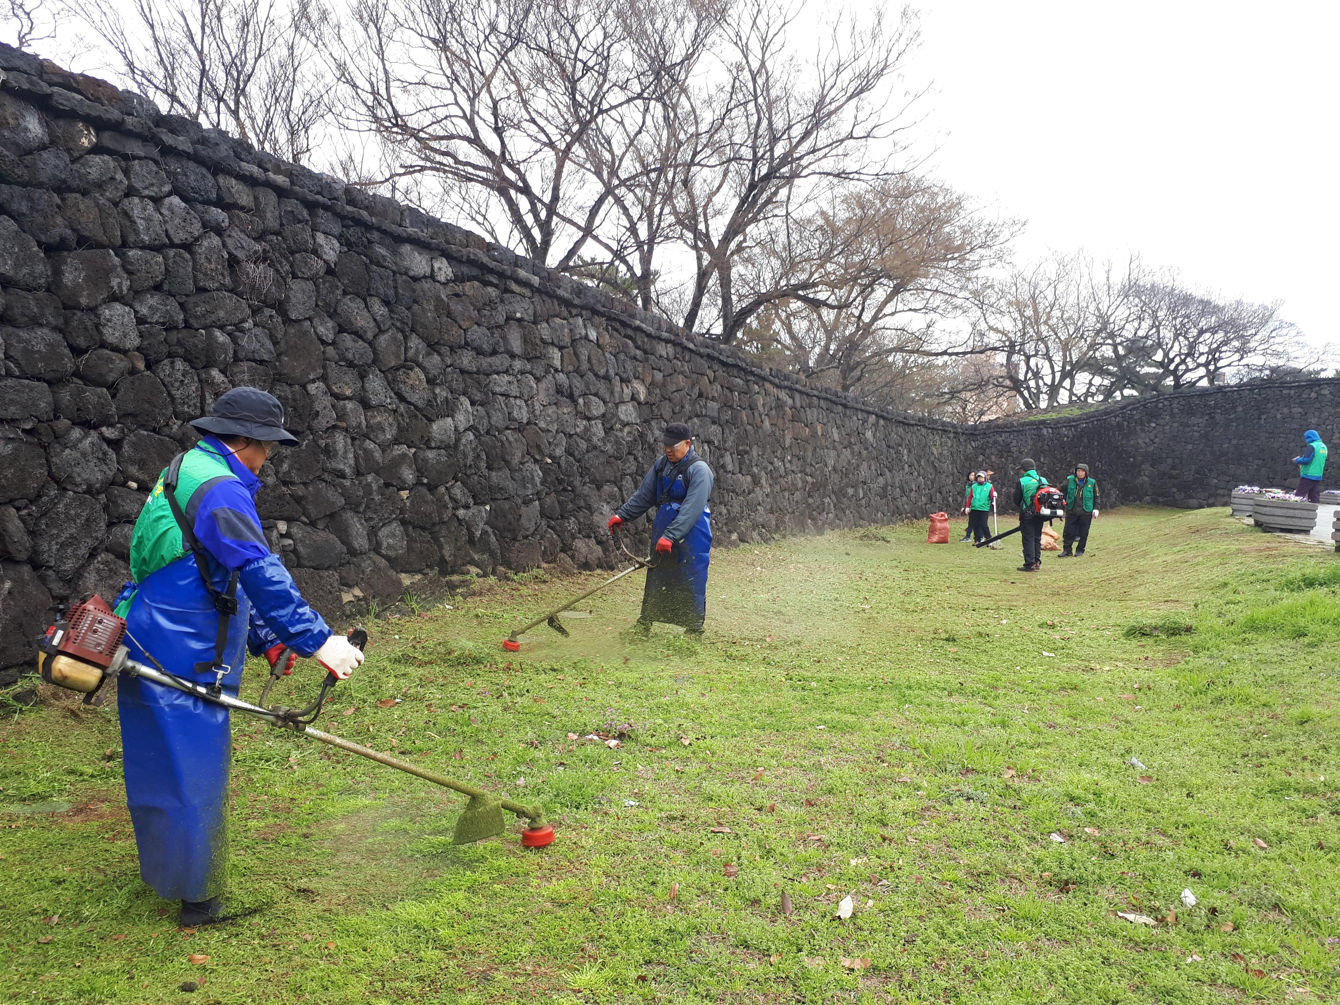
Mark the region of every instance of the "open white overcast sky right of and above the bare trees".
POLYGON ((1021 253, 1136 251, 1340 340, 1340 4, 914 5, 917 147, 1021 253))

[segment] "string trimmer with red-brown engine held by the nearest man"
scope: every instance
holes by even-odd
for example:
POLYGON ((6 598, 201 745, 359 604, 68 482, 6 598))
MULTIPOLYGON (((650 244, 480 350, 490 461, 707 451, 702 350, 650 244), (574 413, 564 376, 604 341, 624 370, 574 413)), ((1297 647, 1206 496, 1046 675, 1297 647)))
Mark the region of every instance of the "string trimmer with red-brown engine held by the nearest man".
MULTIPOLYGON (((431 781, 434 785, 441 785, 442 788, 469 796, 470 801, 456 821, 453 838, 456 844, 470 844, 503 833, 504 809, 529 821, 529 827, 521 832, 521 844, 527 848, 543 848, 545 844, 553 842, 553 828, 544 823, 544 811, 537 805, 527 807, 509 799, 497 799, 474 785, 466 785, 444 775, 423 770, 397 757, 316 729, 312 724, 322 713, 326 695, 339 682, 335 674, 326 674, 316 701, 304 709, 289 709, 283 705, 263 708, 261 705, 252 705, 241 698, 234 698, 217 685, 209 686, 182 679, 165 670, 162 663, 154 659, 147 651, 145 651, 145 655, 149 657, 153 666, 135 662, 130 658, 130 651, 121 645, 126 634, 126 622, 113 614, 107 603, 94 594, 87 603, 72 608, 68 619, 60 618, 47 630, 46 636, 39 641, 40 655, 38 657, 38 669, 42 673, 42 679, 72 691, 82 691, 84 694, 84 705, 102 705, 107 698, 111 681, 117 679, 118 674, 142 677, 163 687, 174 687, 178 691, 193 694, 201 701, 221 705, 233 712, 245 712, 248 716, 263 718, 279 729, 289 729, 318 742, 366 757, 370 761, 385 764, 387 768, 395 768, 395 770, 414 775, 425 781, 431 781)), ((362 628, 354 628, 348 634, 348 638, 359 649, 367 645, 367 632, 362 628)), ((134 638, 131 641, 134 642, 134 638)), ((287 662, 287 651, 280 659, 275 661, 277 673, 271 673, 271 679, 265 683, 265 689, 261 693, 261 701, 268 697, 275 678, 283 673, 287 662)))

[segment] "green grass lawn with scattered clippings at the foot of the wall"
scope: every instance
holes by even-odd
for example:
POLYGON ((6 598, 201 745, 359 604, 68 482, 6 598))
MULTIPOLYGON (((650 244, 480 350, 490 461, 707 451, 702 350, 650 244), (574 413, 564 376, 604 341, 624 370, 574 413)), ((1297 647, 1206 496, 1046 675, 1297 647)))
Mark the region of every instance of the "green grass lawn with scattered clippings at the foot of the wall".
POLYGON ((139 880, 115 712, 8 702, 0 1001, 1340 998, 1340 557, 1223 509, 1106 512, 1037 575, 925 537, 717 552, 701 643, 624 636, 641 575, 515 655, 599 576, 370 623, 324 728, 557 842, 454 847, 461 799, 234 717, 255 913, 198 931, 139 880))

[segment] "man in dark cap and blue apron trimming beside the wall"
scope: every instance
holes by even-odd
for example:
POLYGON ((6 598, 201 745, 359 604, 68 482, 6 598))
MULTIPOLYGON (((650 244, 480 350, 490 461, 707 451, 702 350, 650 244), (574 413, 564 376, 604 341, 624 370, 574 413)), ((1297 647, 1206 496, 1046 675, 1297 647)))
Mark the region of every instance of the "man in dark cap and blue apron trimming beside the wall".
POLYGON ((693 449, 693 433, 671 422, 661 437, 657 458, 642 485, 610 517, 610 531, 657 508, 651 524, 657 564, 647 570, 642 616, 635 628, 646 634, 653 622, 681 624, 687 635, 702 635, 708 614, 708 561, 712 552, 712 468, 693 449))

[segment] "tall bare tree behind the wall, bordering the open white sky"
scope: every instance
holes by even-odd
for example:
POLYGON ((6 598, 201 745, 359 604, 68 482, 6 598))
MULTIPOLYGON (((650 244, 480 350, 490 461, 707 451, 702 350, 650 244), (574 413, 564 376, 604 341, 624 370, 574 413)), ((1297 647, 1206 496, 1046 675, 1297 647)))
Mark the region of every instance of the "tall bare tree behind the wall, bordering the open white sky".
POLYGON ((823 241, 801 221, 844 185, 894 174, 902 109, 891 83, 917 43, 911 13, 892 27, 882 8, 864 23, 839 19, 809 63, 792 55, 791 28, 787 8, 749 0, 726 27, 717 79, 682 94, 691 168, 675 212, 694 260, 683 326, 726 343, 770 303, 833 303, 823 241), (762 241, 761 260, 781 268, 740 269, 762 241))

